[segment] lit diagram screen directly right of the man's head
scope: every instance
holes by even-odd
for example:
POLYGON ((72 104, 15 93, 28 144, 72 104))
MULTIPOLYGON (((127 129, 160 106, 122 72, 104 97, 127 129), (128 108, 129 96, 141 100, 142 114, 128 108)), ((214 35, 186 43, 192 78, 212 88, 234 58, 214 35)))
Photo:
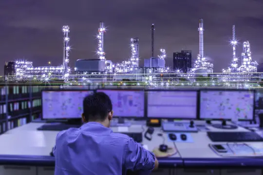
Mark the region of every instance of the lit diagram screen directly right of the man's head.
POLYGON ((112 100, 113 117, 144 117, 144 91, 100 89, 112 100))

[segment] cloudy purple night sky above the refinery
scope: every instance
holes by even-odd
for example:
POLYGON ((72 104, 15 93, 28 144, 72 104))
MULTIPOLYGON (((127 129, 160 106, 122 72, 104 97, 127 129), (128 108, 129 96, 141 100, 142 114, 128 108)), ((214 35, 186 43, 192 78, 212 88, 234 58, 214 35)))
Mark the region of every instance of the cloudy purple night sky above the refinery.
MULTIPOLYGON (((139 37, 140 66, 151 55, 150 26, 155 24, 155 56, 187 48, 198 53, 198 20, 204 19, 205 55, 215 71, 232 58, 229 41, 236 25, 239 42, 250 41, 252 59, 263 62, 263 0, 0 0, 0 65, 24 58, 34 66, 62 64, 63 25, 70 26, 70 65, 97 58, 99 21, 107 27, 104 50, 114 63, 130 56, 130 38, 139 37)), ((241 57, 242 44, 237 48, 241 57)), ((240 63, 239 63, 240 66, 240 63)), ((0 69, 0 75, 3 69, 0 69)))

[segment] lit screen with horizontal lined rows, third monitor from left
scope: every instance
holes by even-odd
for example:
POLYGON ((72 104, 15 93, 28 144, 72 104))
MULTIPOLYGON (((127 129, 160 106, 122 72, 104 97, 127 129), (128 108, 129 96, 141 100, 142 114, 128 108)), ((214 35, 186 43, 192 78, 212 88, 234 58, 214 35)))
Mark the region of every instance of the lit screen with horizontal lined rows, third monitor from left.
POLYGON ((195 119, 196 91, 148 91, 148 117, 195 119))

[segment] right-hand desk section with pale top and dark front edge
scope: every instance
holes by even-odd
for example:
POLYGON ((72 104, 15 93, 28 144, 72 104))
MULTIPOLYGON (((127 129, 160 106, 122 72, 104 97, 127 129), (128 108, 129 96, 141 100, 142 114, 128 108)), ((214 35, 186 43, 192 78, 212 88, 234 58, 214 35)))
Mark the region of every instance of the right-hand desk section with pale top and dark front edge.
MULTIPOLYGON (((213 122, 213 124, 220 122, 213 122)), ((197 121, 195 124, 205 124, 203 121, 197 121)), ((230 124, 230 123, 227 123, 230 124)), ((210 131, 248 131, 243 127, 238 127, 237 129, 217 129, 210 125, 207 125, 210 131)), ((177 149, 180 152, 181 157, 184 161, 185 167, 253 167, 262 168, 263 158, 259 157, 220 157, 215 154, 209 147, 208 144, 213 143, 208 137, 206 132, 191 133, 194 140, 193 143, 176 142, 177 149)), ((223 144, 224 142, 218 142, 223 144)), ((256 147, 263 148, 263 142, 246 142, 248 145, 253 145, 256 147)))

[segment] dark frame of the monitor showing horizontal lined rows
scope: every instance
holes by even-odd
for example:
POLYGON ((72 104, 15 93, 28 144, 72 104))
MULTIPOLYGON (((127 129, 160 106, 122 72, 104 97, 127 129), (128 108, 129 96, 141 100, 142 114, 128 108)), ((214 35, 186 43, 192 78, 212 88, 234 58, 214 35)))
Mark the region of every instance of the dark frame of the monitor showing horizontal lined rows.
POLYGON ((192 89, 150 89, 150 90, 145 90, 146 94, 146 116, 147 119, 166 119, 166 120, 198 120, 198 114, 199 114, 199 99, 198 99, 198 90, 192 90, 192 89), (195 118, 170 118, 170 117, 149 117, 148 116, 148 92, 155 92, 155 91, 171 91, 171 92, 196 92, 196 117, 195 118))

